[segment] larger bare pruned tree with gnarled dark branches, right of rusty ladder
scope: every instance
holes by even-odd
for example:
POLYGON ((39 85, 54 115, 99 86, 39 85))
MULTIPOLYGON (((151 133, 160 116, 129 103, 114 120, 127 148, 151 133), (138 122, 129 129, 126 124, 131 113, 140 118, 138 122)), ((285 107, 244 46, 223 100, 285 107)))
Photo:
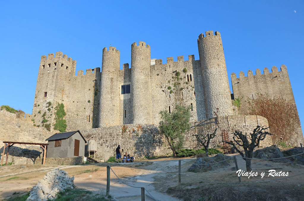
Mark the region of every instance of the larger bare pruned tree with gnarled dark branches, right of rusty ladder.
POLYGON ((242 157, 246 157, 243 158, 246 161, 246 170, 247 171, 251 171, 251 158, 253 155, 253 150, 255 147, 257 147, 260 143, 261 140, 264 140, 265 137, 267 135, 272 135, 271 133, 267 132, 266 129, 268 129, 269 127, 266 126, 257 126, 257 128, 255 128, 253 130, 253 133, 250 133, 250 135, 247 135, 247 133, 244 135, 242 134, 242 131, 236 130, 235 132, 233 132, 233 140, 236 144, 234 144, 233 141, 230 142, 226 142, 227 144, 230 144, 234 147, 234 149, 239 152, 239 154, 242 157), (265 127, 265 128, 264 128, 265 127), (250 139, 251 142, 248 141, 248 139, 250 139), (240 142, 241 141, 241 142, 240 142), (237 146, 241 146, 243 147, 244 151, 245 151, 245 156, 244 153, 241 152, 237 146), (247 159, 248 158, 248 159, 247 159))

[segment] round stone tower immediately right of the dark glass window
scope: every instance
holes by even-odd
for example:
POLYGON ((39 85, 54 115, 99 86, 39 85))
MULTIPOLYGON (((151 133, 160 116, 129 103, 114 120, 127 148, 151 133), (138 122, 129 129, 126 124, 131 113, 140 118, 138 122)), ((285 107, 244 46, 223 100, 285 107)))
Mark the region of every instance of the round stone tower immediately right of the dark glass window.
POLYGON ((131 46, 131 102, 133 124, 152 123, 150 45, 140 41, 131 46))

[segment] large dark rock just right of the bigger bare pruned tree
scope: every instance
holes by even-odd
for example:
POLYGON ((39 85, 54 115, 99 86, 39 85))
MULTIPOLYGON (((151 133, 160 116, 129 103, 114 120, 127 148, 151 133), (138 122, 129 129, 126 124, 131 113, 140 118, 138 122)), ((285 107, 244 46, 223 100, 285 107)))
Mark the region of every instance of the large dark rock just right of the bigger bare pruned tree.
MULTIPOLYGON (((254 158, 258 159, 274 159, 284 157, 283 153, 276 145, 271 145, 270 147, 265 147, 264 149, 258 149, 253 153, 254 158)), ((287 159, 275 159, 275 162, 286 162, 287 159)))

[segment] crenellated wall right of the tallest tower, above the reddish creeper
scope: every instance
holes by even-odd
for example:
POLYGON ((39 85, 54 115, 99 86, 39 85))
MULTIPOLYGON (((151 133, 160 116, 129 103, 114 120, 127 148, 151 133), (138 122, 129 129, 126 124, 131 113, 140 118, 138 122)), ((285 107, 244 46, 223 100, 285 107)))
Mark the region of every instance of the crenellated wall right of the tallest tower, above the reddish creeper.
MULTIPOLYGON (((231 82, 234 98, 244 97, 243 100, 246 100, 249 97, 250 99, 255 99, 257 94, 267 93, 270 97, 281 97, 295 104, 286 66, 282 65, 281 71, 278 71, 278 68, 273 66, 271 71, 269 72, 268 68, 264 68, 264 74, 261 74, 261 70, 257 69, 255 71, 256 75, 253 75, 252 71, 249 70, 246 77, 245 73, 241 71, 239 78, 237 78, 235 73, 232 73, 231 82)), ((295 136, 297 141, 295 146, 299 146, 300 142, 304 142, 300 121, 297 124, 299 127, 297 129, 298 135, 295 136)))

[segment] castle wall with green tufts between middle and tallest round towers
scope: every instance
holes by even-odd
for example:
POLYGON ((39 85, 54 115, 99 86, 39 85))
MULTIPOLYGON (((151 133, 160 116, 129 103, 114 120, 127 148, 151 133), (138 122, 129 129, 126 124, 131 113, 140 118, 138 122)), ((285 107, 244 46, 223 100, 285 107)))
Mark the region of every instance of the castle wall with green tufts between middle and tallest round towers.
POLYGON ((155 65, 151 65, 152 114, 155 125, 161 120, 159 112, 169 111, 169 106, 172 112, 176 104, 192 106, 191 121, 206 119, 201 72, 199 60, 195 61, 194 55, 189 55, 188 61, 184 61, 184 56, 178 56, 177 62, 173 61, 173 57, 168 57, 167 64, 162 64, 162 60, 157 59, 155 65), (186 72, 183 72, 184 69, 186 72), (178 80, 176 72, 180 72, 178 80))

